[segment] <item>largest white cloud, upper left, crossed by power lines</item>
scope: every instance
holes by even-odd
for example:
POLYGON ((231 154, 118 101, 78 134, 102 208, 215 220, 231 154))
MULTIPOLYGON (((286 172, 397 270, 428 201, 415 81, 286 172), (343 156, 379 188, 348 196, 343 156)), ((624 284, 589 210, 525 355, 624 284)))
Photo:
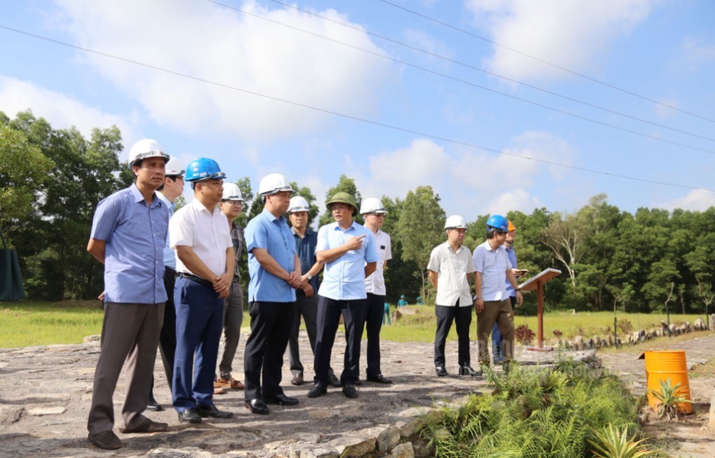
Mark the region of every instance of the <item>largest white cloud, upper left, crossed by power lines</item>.
MULTIPOLYGON (((58 0, 77 44, 246 91, 346 114, 375 109, 388 61, 205 1, 58 0)), ((383 52, 360 31, 295 9, 237 8, 383 52)), ((322 16, 350 22, 328 9, 322 16)), ((158 124, 189 133, 272 141, 321 129, 332 116, 162 71, 80 54, 137 99, 158 124)))

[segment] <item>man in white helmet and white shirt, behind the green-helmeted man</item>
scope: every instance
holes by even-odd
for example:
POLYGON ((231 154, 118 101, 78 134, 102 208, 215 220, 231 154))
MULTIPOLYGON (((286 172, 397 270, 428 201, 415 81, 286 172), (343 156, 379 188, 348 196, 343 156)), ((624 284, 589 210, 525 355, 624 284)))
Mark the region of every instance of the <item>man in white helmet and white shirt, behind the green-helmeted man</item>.
POLYGON ((368 332, 367 374, 369 382, 382 384, 393 382, 383 377, 383 372, 380 370, 380 329, 383 327, 386 294, 384 271, 388 267, 388 261, 393 257, 390 236, 380 230, 387 213, 383 203, 375 197, 363 200, 360 206, 360 214, 365 219, 364 226, 375 236, 375 248, 378 249, 379 257, 377 269, 365 279, 365 292, 368 294, 365 304, 365 329, 368 332))

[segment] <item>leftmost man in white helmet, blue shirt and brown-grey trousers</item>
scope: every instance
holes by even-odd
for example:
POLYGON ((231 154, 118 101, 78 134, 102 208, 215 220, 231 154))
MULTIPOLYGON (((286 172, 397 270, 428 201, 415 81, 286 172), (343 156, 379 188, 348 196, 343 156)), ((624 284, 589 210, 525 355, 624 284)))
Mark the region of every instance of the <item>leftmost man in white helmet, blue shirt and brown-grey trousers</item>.
POLYGON ((164 318, 164 244, 169 209, 154 192, 164 183, 169 155, 152 139, 129 151, 137 181, 97 205, 87 251, 104 264, 102 347, 87 419, 88 439, 101 449, 122 447, 114 431, 114 402, 119 373, 127 362, 127 397, 122 407, 128 433, 167 429, 144 417, 164 318))

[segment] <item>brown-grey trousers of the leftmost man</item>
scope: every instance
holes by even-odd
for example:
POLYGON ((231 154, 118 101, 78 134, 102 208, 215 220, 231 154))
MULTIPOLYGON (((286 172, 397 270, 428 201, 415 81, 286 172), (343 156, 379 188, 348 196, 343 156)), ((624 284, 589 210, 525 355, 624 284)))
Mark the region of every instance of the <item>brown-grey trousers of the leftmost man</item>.
POLYGON ((105 304, 101 352, 94 371, 92 407, 87 419, 90 434, 114 428, 112 397, 125 361, 127 395, 122 406, 124 427, 135 428, 144 422, 142 412, 147 408, 149 400, 163 320, 164 302, 105 304))

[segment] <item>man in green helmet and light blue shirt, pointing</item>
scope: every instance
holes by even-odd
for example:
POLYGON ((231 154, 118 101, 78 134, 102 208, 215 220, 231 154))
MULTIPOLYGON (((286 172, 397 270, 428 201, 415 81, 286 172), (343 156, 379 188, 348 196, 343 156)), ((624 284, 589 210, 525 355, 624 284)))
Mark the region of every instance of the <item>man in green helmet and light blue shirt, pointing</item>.
POLYGON ((334 223, 322 226, 317 234, 315 257, 325 264, 318 291, 317 337, 315 339, 315 386, 308 397, 327 393, 330 354, 342 314, 345 323, 345 367, 340 376, 342 393, 358 397, 360 339, 365 325, 365 279, 375 272, 378 250, 373 233, 355 223, 355 199, 338 192, 327 201, 334 223))

